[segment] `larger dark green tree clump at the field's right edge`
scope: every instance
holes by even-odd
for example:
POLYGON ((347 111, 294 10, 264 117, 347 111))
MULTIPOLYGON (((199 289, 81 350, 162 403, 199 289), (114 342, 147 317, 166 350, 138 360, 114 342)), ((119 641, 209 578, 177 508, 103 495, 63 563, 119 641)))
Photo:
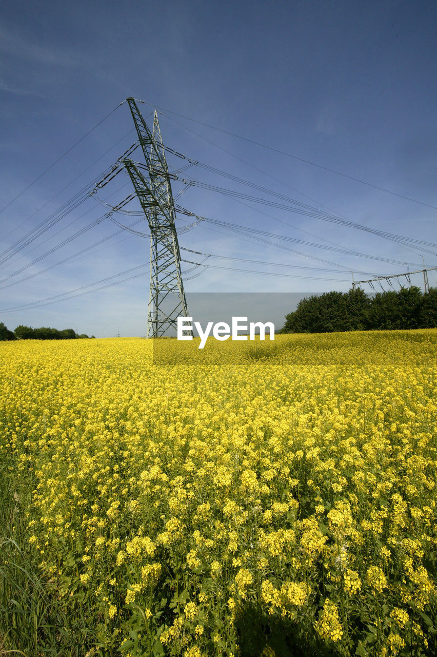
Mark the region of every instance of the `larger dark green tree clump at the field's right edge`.
POLYGON ((283 333, 437 328, 437 288, 416 286, 367 296, 357 288, 302 299, 285 315, 283 333))

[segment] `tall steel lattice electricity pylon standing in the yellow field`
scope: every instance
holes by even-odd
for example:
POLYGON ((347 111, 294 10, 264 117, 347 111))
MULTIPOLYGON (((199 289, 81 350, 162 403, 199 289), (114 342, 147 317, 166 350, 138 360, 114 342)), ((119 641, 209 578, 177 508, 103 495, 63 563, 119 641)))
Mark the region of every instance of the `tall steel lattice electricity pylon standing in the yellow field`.
POLYGON ((180 251, 176 232, 175 202, 171 193, 169 170, 161 139, 157 113, 151 133, 135 99, 127 98, 138 133, 146 168, 133 160, 123 164, 135 188, 150 227, 150 294, 147 337, 158 338, 168 328, 177 328, 179 315, 188 317, 180 251), (144 177, 142 171, 147 170, 144 177), (165 304, 164 304, 165 302, 165 304))

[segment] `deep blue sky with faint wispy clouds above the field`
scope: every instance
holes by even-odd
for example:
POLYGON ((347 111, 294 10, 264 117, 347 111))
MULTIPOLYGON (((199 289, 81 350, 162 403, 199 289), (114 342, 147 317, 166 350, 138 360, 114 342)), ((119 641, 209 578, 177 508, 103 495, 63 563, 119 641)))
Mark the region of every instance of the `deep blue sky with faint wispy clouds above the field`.
MULTIPOLYGON (((411 271, 423 267, 422 256, 437 265, 434 246, 277 207, 298 201, 336 220, 436 244, 436 11, 432 1, 3 3, 0 251, 10 256, 15 242, 20 250, 0 265, 0 321, 144 335, 148 238, 110 237, 118 230, 110 218, 96 222, 107 206, 86 194, 135 141, 129 108, 119 106, 128 96, 148 103, 140 107, 150 126, 159 108, 165 145, 273 193, 199 166, 181 173, 270 202, 175 183, 175 194, 185 190, 184 208, 281 236, 207 221, 182 231, 193 221, 181 215, 181 246, 222 256, 188 272, 187 291, 345 291, 352 271, 355 280, 411 271), (85 200, 72 209, 83 190, 85 200), (61 217, 64 204, 69 212, 61 217), (50 216, 57 221, 49 230, 25 239, 50 216), (117 284, 82 294, 108 283, 117 284), (39 304, 72 290, 81 296, 39 304)), ((171 170, 188 164, 171 155, 168 162, 171 170)), ((98 196, 115 204, 129 185, 121 173, 98 196)), ((124 225, 140 219, 114 217, 124 225)), ((144 221, 135 230, 148 234, 144 221)), ((204 257, 182 251, 186 260, 204 257)), ((430 284, 436 281, 430 273, 430 284)))

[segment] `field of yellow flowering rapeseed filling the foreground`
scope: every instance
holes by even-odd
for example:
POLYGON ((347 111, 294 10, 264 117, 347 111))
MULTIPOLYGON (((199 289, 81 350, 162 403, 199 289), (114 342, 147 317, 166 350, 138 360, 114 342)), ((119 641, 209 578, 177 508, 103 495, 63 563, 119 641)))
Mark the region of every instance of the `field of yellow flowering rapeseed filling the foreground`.
POLYGON ((0 654, 436 654, 436 356, 0 343, 0 654))

